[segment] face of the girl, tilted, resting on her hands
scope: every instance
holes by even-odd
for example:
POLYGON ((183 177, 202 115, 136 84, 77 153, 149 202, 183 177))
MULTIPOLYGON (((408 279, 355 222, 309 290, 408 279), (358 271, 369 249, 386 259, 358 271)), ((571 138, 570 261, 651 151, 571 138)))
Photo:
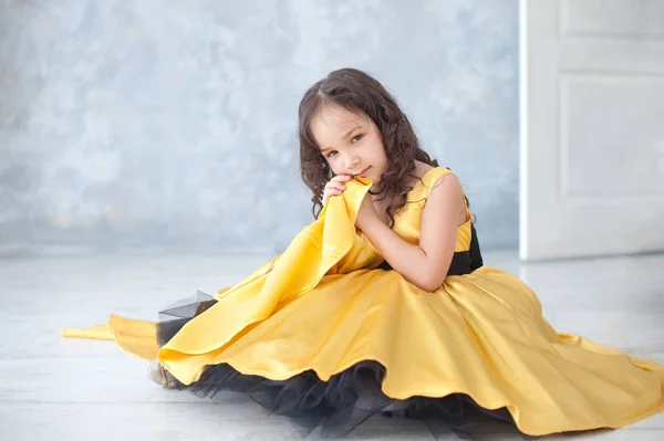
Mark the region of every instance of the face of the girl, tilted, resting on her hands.
POLYGON ((364 114, 326 106, 311 122, 311 132, 334 175, 351 175, 378 183, 387 171, 381 130, 364 114))

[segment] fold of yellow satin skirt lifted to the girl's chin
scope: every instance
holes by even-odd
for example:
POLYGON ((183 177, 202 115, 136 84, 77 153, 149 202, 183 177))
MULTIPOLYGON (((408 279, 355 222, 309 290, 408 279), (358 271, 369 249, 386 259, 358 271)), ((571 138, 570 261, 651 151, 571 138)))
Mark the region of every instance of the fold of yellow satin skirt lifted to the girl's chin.
POLYGON ((353 245, 357 211, 370 188, 367 179, 346 182, 342 197, 330 198, 319 219, 295 235, 270 272, 255 272, 247 277, 251 283, 226 291, 159 350, 164 367, 184 384, 198 380, 203 368, 214 364, 242 329, 269 317, 280 301, 313 288, 353 245))

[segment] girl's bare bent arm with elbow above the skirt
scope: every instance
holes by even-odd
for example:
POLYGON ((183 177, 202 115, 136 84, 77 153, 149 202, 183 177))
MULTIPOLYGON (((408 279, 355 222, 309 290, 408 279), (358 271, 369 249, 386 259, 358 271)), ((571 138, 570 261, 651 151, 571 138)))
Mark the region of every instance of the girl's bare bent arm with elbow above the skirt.
POLYGON ((424 206, 418 245, 404 241, 383 223, 369 196, 362 201, 355 224, 404 279, 424 291, 433 292, 443 284, 454 258, 459 213, 464 204, 459 180, 448 174, 436 181, 424 206))

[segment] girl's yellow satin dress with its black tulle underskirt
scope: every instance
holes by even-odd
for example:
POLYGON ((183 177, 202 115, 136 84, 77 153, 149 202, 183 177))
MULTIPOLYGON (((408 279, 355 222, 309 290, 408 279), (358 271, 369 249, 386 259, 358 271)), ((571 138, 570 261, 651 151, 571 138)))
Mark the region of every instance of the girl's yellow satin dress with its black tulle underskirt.
MULTIPOLYGON (((428 192, 448 172, 429 170, 408 195, 394 225, 404 240, 418 243, 428 192)), ((449 419, 471 403, 543 435, 619 428, 664 410, 662 366, 557 333, 516 276, 483 265, 448 274, 428 293, 385 267, 354 228, 370 186, 350 181, 283 254, 193 318, 174 321, 163 345, 156 335, 168 322, 112 316, 106 326, 63 333, 156 356, 184 389, 260 392, 271 410, 329 428, 386 410, 449 419)), ((455 260, 467 264, 473 239, 468 220, 455 260)))

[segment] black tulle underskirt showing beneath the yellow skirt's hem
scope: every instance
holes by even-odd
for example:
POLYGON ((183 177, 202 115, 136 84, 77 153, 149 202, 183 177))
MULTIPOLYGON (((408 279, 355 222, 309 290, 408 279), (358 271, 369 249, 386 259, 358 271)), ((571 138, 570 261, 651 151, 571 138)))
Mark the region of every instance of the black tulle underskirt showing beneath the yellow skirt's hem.
MULTIPOLYGON (((209 295, 197 293, 162 311, 157 324, 159 346, 215 303, 209 295)), ((245 375, 221 364, 207 366, 198 381, 180 384, 178 389, 214 400, 224 400, 221 391, 246 393, 269 412, 290 418, 304 433, 320 427, 322 437, 344 437, 369 418, 383 416, 421 420, 438 439, 447 435, 491 439, 491 433, 533 439, 517 429, 505 408, 487 410, 461 393, 393 399, 382 391, 384 377, 385 367, 374 360, 359 363, 328 381, 321 380, 313 370, 286 380, 271 380, 245 375)))

